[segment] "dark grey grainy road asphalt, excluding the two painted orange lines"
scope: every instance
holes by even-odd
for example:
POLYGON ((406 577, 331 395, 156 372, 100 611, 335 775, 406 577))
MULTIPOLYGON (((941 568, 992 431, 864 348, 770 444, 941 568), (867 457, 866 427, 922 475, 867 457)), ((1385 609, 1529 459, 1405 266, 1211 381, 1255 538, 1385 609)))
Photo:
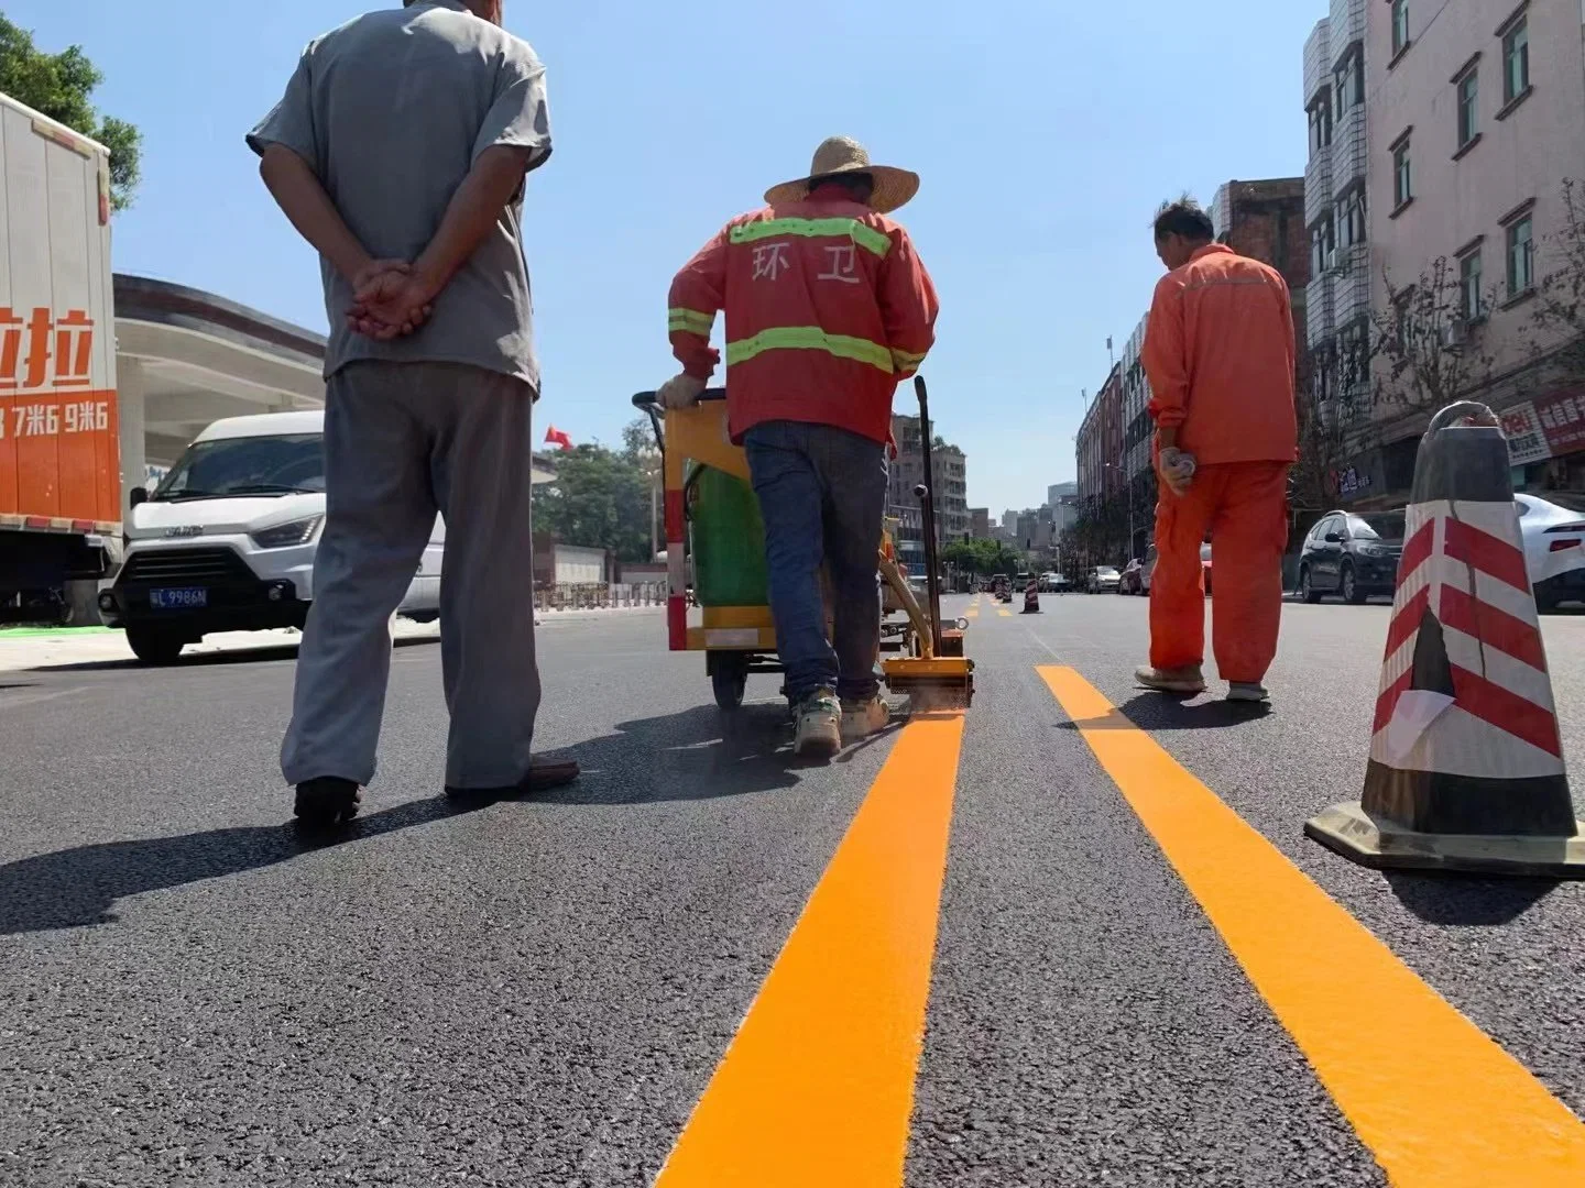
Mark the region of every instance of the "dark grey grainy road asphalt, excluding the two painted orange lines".
MULTIPOLYGON (((1358 795, 1385 607, 1287 607, 1266 714, 1138 694, 1141 599, 1043 607, 970 630, 910 1186, 1384 1183, 1040 664, 1585 1114, 1585 885, 1301 835, 1358 795)), ((775 678, 723 719, 663 638, 545 627, 539 738, 585 776, 472 811, 441 797, 439 653, 399 648, 339 844, 285 824, 290 649, 0 675, 0 1183, 650 1183, 892 744, 800 765, 775 678)), ((1579 754, 1585 618, 1545 642, 1579 754)))

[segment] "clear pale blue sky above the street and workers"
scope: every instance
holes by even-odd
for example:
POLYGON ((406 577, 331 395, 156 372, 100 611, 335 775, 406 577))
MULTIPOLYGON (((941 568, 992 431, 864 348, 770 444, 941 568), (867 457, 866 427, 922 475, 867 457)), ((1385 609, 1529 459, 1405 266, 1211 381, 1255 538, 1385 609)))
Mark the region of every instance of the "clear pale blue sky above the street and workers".
MULTIPOLYGON (((390 0, 391 5, 399 0, 390 0)), ((319 272, 243 144, 317 33, 358 0, 0 0, 79 43, 101 109, 144 133, 116 268, 323 329, 319 272)), ((968 499, 1025 507, 1073 477, 1079 391, 1106 374, 1160 263, 1167 196, 1303 173, 1303 46, 1323 0, 506 0, 547 63, 553 160, 526 241, 540 421, 620 439, 674 364, 666 288, 773 182, 845 133, 922 174, 899 217, 941 295, 926 364, 968 499)), ((910 410, 911 391, 899 390, 910 410)))

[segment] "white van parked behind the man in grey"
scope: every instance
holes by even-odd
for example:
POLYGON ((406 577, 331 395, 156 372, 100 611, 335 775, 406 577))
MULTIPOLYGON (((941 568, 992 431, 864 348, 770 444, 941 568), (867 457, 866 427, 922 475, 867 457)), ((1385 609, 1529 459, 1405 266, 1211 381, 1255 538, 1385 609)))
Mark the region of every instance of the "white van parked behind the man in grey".
MULTIPOLYGON (((301 627, 325 521, 325 413, 216 421, 125 520, 127 556, 100 592, 144 664, 171 664, 214 630, 301 627)), ((439 516, 399 615, 439 618, 439 516)))

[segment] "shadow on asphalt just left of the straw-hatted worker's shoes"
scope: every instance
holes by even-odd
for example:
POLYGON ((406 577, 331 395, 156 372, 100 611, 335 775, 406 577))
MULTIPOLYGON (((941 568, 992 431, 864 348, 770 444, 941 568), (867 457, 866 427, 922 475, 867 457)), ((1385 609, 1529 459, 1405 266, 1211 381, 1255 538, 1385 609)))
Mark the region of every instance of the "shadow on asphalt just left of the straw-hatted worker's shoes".
POLYGON ((534 800, 547 805, 650 805, 712 800, 792 787, 807 765, 792 754, 781 703, 721 713, 701 705, 621 722, 617 733, 569 751, 583 767, 575 784, 534 800))

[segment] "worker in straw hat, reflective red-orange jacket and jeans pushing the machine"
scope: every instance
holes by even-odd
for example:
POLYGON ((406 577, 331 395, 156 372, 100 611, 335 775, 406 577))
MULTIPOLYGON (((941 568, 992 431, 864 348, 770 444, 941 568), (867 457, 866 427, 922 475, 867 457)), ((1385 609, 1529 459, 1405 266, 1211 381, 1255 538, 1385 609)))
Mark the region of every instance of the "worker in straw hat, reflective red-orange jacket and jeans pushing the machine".
POLYGON ((677 274, 667 409, 693 404, 720 355, 726 310, 728 432, 743 447, 766 523, 777 648, 797 719, 794 751, 835 752, 889 716, 875 661, 875 565, 886 510, 892 394, 935 341, 935 288, 908 233, 886 217, 918 174, 872 165, 837 136, 810 174, 766 193, 677 274), (821 567, 834 592, 826 634, 821 567))

